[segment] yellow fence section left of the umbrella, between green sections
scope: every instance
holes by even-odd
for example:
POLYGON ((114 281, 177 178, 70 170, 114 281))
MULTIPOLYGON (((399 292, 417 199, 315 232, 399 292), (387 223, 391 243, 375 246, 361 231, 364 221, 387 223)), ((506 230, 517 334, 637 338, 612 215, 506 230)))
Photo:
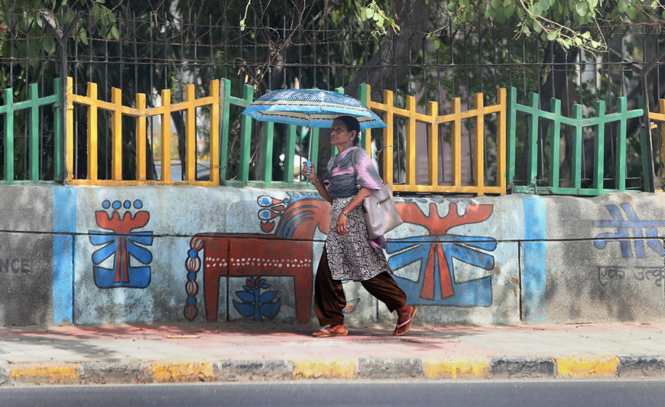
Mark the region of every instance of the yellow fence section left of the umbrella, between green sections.
POLYGON ((161 105, 146 108, 146 95, 136 94, 136 107, 122 106, 122 91, 112 88, 111 101, 104 102, 97 98, 97 84, 88 82, 85 96, 74 94, 72 78, 67 78, 66 112, 66 183, 70 185, 219 185, 219 165, 210 166, 209 181, 196 180, 196 108, 209 106, 210 110, 210 163, 219 162, 219 108, 221 105, 219 80, 210 82, 210 94, 196 98, 195 86, 186 86, 185 100, 171 103, 171 91, 161 92, 161 105), (74 105, 86 106, 87 110, 87 179, 74 179, 74 105), (111 177, 98 179, 98 115, 100 110, 111 114, 111 177), (171 114, 185 111, 185 181, 171 179, 171 114), (122 175, 122 117, 136 118, 136 180, 125 180, 122 175), (162 145, 162 168, 159 181, 146 180, 147 155, 146 119, 159 116, 161 120, 160 140, 162 145))

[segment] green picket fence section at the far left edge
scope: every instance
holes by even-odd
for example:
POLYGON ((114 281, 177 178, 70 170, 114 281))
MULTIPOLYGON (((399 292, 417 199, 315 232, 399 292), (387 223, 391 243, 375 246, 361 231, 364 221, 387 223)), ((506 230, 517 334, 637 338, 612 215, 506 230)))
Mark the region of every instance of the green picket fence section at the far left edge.
MULTIPOLYGON (((37 84, 29 84, 27 100, 14 102, 14 90, 5 89, 3 93, 3 105, 0 106, 0 117, 4 122, 3 128, 3 179, 0 183, 39 183, 42 181, 53 182, 62 181, 62 171, 64 169, 63 161, 63 114, 62 114, 62 92, 63 87, 60 78, 53 81, 55 93, 50 96, 39 97, 39 88, 37 84), (41 143, 42 120, 40 118, 40 108, 51 106, 53 109, 53 152, 47 151, 45 145, 41 143), (17 171, 15 169, 15 159, 17 154, 16 115, 22 110, 27 111, 26 120, 23 126, 27 130, 27 140, 25 143, 24 155, 27 161, 25 168, 25 179, 15 180, 17 171), (53 157, 53 173, 51 175, 41 174, 40 164, 42 160, 53 157)), ((18 129, 19 131, 21 129, 18 129)))

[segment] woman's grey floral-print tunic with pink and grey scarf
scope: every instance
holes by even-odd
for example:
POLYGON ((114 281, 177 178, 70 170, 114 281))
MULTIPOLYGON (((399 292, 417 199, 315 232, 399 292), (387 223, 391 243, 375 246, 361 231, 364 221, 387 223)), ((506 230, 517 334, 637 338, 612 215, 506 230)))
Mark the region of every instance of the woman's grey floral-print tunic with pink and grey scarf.
POLYGON ((370 245, 362 205, 348 213, 347 234, 340 236, 335 231, 337 218, 344 206, 358 193, 359 187, 356 185, 370 189, 382 188, 382 181, 366 151, 350 147, 335 155, 328 162, 328 173, 321 180, 333 198, 331 226, 326 240, 332 278, 363 281, 382 272, 392 274, 384 254, 370 245))

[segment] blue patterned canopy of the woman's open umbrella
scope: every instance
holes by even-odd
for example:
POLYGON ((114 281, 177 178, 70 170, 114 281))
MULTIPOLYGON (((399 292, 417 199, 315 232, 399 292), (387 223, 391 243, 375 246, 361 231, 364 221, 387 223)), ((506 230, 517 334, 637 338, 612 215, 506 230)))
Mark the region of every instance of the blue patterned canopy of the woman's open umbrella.
POLYGON ((331 127, 342 115, 354 116, 360 129, 387 127, 374 112, 357 99, 319 89, 281 89, 261 96, 243 114, 261 122, 276 122, 303 127, 331 127))

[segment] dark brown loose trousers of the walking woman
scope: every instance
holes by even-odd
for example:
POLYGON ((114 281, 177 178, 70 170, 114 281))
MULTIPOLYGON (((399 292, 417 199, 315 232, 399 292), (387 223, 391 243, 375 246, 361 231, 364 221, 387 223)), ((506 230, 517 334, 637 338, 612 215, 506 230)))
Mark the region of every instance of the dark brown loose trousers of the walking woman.
MULTIPOLYGON (((369 280, 360 282, 370 294, 386 304, 390 312, 406 304, 406 293, 400 288, 395 280, 388 274, 382 272, 369 280)), ((317 277, 314 282, 314 311, 321 325, 342 325, 346 307, 346 297, 341 280, 332 280, 331 269, 328 265, 328 254, 325 246, 319 261, 317 277)))

